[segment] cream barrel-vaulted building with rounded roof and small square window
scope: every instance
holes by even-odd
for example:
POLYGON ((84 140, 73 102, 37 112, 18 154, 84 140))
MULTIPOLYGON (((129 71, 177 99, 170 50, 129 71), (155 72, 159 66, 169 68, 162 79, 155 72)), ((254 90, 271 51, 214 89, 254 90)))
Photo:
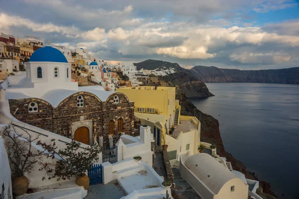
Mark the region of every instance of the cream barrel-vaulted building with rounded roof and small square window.
POLYGON ((248 184, 209 154, 181 155, 179 172, 203 199, 247 199, 248 184))

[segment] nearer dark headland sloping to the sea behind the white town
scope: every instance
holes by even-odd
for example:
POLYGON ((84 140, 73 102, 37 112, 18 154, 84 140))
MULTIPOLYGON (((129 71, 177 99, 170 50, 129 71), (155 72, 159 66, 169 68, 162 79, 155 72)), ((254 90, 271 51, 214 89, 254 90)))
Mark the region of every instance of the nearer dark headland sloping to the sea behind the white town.
POLYGON ((207 98, 213 96, 207 88, 207 86, 200 80, 198 80, 190 70, 180 67, 177 63, 170 63, 157 60, 146 60, 140 63, 134 63, 137 69, 153 70, 156 68, 174 68, 176 73, 159 76, 160 81, 170 83, 172 86, 179 87, 188 98, 207 98))

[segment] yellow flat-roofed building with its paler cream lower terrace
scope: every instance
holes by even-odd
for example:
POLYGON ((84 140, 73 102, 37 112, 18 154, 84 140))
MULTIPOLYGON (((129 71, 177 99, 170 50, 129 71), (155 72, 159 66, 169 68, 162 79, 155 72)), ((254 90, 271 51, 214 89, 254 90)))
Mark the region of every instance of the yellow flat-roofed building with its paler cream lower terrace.
POLYGON ((168 145, 169 158, 197 153, 200 144, 200 122, 196 117, 181 116, 175 87, 126 87, 116 89, 135 102, 135 116, 142 125, 149 125, 156 145, 168 145))

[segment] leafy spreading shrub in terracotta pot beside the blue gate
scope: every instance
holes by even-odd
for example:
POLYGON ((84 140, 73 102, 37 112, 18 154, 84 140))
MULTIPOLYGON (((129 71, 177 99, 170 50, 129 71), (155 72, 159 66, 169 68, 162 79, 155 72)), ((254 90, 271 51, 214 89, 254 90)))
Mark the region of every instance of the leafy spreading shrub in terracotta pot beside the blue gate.
MULTIPOLYGON (((45 170, 48 179, 61 178, 63 180, 70 179, 76 176, 76 184, 83 186, 85 190, 89 187, 89 178, 86 176, 86 171, 91 169, 93 164, 99 160, 99 153, 103 151, 98 143, 88 146, 87 148, 81 147, 81 143, 72 140, 63 149, 57 150, 55 142, 53 144, 37 142, 43 149, 48 151, 47 158, 54 159, 57 157, 58 161, 54 164, 54 169, 49 164, 41 164, 40 170, 45 170)), ((45 176, 42 180, 45 179, 45 176)))

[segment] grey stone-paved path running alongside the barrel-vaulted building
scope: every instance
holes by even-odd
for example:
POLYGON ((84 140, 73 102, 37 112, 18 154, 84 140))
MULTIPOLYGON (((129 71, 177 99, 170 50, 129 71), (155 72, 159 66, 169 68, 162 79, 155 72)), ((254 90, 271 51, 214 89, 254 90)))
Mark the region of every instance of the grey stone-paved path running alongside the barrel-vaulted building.
POLYGON ((180 196, 184 199, 202 199, 189 183, 180 177, 179 169, 172 168, 172 172, 174 175, 175 188, 178 190, 180 196))

